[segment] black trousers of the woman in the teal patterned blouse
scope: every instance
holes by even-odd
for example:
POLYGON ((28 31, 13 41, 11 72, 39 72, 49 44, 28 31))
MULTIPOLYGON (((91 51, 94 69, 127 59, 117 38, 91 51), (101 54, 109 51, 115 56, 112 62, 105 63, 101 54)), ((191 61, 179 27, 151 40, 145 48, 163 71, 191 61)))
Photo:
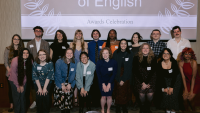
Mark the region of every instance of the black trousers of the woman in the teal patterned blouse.
MULTIPOLYGON (((38 91, 37 84, 34 84, 35 91, 38 91)), ((41 86, 42 89, 44 86, 41 86)), ((37 105, 37 113, 49 113, 50 110, 50 99, 49 99, 49 91, 50 91, 51 83, 48 84, 47 86, 47 95, 39 95, 36 94, 36 105, 37 105)))

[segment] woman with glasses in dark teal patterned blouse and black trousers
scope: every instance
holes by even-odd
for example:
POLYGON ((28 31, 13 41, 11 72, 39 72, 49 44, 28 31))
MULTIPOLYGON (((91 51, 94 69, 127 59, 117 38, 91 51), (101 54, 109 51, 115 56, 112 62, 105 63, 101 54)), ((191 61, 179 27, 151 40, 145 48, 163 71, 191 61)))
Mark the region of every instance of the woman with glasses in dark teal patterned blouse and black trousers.
POLYGON ((38 51, 33 63, 32 80, 36 91, 37 113, 49 113, 49 91, 54 80, 54 66, 44 49, 38 51))

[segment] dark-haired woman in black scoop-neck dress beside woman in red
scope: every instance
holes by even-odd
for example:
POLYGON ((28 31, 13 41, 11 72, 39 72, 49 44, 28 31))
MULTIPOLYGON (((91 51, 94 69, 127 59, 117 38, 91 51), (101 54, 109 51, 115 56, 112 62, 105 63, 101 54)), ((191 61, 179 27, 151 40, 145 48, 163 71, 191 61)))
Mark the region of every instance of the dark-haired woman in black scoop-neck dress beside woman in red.
POLYGON ((175 113, 179 110, 179 92, 181 88, 181 76, 176 60, 170 49, 164 48, 161 51, 157 68, 157 81, 159 90, 162 91, 161 108, 166 113, 175 113))

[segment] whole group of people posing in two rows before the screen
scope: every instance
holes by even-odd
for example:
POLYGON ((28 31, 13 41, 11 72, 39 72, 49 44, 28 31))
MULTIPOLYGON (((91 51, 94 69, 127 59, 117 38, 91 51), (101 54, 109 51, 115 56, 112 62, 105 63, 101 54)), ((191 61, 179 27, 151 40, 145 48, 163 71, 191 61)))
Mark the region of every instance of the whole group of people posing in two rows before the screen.
POLYGON ((180 109, 181 95, 187 107, 200 91, 196 57, 190 42, 181 37, 179 26, 173 27, 174 38, 167 45, 160 40, 161 32, 154 29, 152 40, 142 45, 142 36, 134 33, 131 46, 126 39, 118 41, 114 29, 106 42, 99 40, 101 33, 94 29, 89 43, 78 29, 70 44, 65 32, 57 30, 50 46, 42 39, 42 27, 33 30, 35 38, 27 48, 15 34, 4 52, 9 111, 14 108, 15 113, 25 113, 31 93, 31 108, 37 105, 37 113, 49 113, 52 94, 61 113, 70 113, 78 100, 79 113, 83 113, 85 103, 87 111, 91 111, 91 104, 101 105, 102 113, 107 104, 106 112, 110 113, 113 99, 116 113, 128 113, 132 95, 140 113, 151 113, 152 100, 167 113, 175 113, 180 109))

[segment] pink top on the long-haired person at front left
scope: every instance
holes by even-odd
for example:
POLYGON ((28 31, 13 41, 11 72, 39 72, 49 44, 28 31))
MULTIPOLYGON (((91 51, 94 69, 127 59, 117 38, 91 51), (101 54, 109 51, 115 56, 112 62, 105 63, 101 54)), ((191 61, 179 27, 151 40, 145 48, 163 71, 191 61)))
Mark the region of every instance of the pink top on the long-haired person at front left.
MULTIPOLYGON (((18 88, 19 87, 19 83, 18 83, 18 57, 15 57, 12 59, 11 65, 10 65, 10 72, 8 73, 8 80, 12 81, 15 86, 18 88), (9 76, 10 75, 10 76, 9 76)), ((23 81, 23 86, 26 83, 26 76, 24 77, 24 81, 23 81)))

